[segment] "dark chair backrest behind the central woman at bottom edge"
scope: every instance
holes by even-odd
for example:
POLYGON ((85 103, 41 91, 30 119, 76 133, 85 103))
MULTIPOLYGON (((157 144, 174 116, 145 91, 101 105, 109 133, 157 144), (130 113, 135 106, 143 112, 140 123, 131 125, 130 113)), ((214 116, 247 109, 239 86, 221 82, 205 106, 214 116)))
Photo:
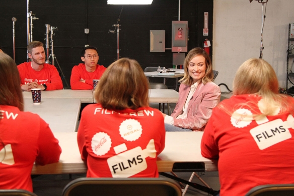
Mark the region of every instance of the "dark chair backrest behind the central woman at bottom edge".
POLYGON ((169 178, 77 178, 63 189, 63 196, 178 195, 181 188, 169 178))

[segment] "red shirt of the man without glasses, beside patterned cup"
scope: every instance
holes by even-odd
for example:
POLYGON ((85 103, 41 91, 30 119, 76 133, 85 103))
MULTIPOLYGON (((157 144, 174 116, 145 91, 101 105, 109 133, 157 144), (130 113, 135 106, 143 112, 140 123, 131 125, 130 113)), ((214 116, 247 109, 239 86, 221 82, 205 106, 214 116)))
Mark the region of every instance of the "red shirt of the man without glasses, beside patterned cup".
POLYGON ((44 67, 40 71, 32 68, 31 62, 24 62, 17 66, 21 78, 21 84, 37 82, 38 84, 46 84, 46 90, 58 90, 63 88, 62 80, 54 65, 44 63, 44 67))

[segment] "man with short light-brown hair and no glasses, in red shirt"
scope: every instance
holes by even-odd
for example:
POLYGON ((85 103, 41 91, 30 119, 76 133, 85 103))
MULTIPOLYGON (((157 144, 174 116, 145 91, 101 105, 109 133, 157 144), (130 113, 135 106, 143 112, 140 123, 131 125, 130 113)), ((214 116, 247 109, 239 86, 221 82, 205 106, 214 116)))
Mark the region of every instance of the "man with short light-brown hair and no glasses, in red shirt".
POLYGON ((56 67, 45 63, 43 43, 32 41, 27 49, 31 62, 24 62, 17 66, 22 90, 31 91, 32 88, 41 88, 42 90, 62 89, 62 80, 56 67))

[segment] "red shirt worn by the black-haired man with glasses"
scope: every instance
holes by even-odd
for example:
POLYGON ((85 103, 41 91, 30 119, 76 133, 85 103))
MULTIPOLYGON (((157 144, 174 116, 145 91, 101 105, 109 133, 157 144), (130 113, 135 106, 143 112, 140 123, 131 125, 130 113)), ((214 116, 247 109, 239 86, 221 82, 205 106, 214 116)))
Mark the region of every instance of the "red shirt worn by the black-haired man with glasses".
POLYGON ((70 76, 71 89, 93 89, 93 79, 100 79, 105 70, 106 68, 103 65, 96 65, 96 70, 94 72, 88 72, 84 63, 73 66, 70 76), (85 80, 85 83, 80 81, 82 79, 85 80))

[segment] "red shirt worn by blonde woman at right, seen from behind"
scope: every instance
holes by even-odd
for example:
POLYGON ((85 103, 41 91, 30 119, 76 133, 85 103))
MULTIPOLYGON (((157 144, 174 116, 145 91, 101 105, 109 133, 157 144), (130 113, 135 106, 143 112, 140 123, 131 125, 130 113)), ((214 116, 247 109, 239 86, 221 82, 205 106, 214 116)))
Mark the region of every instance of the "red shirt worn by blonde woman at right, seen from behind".
MULTIPOLYGON (((286 99, 294 104, 292 97, 286 99)), ((201 141, 202 156, 218 159, 220 195, 245 195, 257 185, 294 183, 294 111, 289 108, 253 120, 251 114, 258 114, 263 104, 254 94, 235 95, 221 104, 240 116, 214 108, 201 141)))

